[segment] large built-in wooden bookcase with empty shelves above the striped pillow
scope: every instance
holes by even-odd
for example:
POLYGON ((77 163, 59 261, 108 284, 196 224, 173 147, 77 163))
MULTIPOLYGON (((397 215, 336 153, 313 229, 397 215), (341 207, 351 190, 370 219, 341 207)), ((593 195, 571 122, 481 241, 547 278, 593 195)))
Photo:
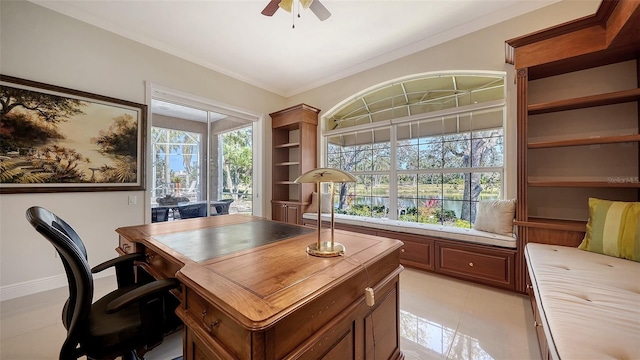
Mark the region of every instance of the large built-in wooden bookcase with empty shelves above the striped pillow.
POLYGON ((516 287, 528 242, 577 246, 588 199, 638 201, 640 3, 507 42, 517 86, 516 287))

